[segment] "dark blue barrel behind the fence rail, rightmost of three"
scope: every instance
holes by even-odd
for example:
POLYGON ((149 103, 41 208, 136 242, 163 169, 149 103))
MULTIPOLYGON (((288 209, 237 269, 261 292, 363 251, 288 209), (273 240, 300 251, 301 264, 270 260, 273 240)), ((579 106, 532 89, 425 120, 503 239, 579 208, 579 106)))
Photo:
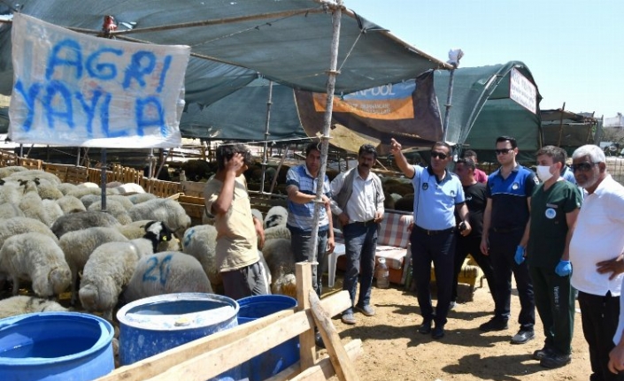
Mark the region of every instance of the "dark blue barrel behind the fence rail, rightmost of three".
MULTIPOLYGON (((297 307, 297 300, 286 295, 256 295, 238 300, 238 324, 249 323, 284 309, 297 307)), ((295 337, 277 347, 258 354, 243 364, 243 376, 250 381, 273 377, 299 361, 299 338, 295 337)))

